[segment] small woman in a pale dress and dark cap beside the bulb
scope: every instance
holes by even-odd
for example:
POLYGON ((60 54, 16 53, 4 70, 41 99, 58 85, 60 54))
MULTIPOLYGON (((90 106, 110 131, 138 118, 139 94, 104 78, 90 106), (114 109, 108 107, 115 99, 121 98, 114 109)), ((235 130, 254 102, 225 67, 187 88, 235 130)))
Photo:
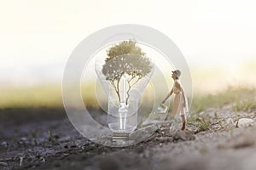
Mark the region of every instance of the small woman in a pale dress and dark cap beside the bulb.
MULTIPOLYGON (((168 99, 172 94, 175 94, 174 101, 173 101, 173 109, 172 109, 172 117, 175 117, 177 112, 182 117, 183 127, 182 130, 185 130, 187 127, 187 120, 186 120, 186 113, 189 112, 188 101, 185 96, 184 89, 179 82, 179 77, 181 75, 181 71, 176 70, 172 71, 172 79, 174 80, 173 87, 171 92, 166 96, 168 99)), ((166 102, 166 99, 162 101, 162 104, 166 102)))

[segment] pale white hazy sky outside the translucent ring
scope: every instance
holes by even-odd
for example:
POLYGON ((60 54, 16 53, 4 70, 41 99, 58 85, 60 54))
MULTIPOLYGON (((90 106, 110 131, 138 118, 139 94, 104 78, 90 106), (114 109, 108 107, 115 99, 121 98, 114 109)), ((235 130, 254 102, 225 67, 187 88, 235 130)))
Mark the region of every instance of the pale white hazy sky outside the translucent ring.
POLYGON ((187 59, 195 87, 218 78, 226 80, 223 86, 254 83, 255 8, 253 0, 0 1, 0 83, 61 82, 79 42, 119 24, 150 26, 170 37, 187 59))

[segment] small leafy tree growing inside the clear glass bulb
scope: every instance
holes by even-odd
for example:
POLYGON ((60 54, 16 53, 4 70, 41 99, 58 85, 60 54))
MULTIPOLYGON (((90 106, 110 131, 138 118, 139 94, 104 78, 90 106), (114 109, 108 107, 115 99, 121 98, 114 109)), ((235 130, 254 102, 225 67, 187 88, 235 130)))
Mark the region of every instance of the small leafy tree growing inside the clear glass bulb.
POLYGON ((124 41, 109 48, 108 58, 102 68, 102 73, 106 80, 110 81, 119 97, 119 81, 125 76, 128 82, 126 91, 126 105, 129 99, 131 87, 140 79, 147 76, 152 71, 150 59, 143 53, 142 48, 138 47, 136 42, 124 41))

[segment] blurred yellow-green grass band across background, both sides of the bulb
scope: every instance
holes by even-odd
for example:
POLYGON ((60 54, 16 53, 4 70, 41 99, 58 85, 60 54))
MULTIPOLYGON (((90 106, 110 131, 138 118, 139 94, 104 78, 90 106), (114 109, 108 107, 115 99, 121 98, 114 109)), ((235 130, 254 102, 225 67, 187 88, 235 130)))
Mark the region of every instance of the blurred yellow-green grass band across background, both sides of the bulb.
MULTIPOLYGON (((33 88, 1 88, 0 93, 0 108, 63 107, 61 84, 41 85, 33 88)), ((100 108, 96 99, 95 87, 92 84, 82 86, 81 93, 86 107, 100 108)), ((221 107, 227 104, 234 104, 234 111, 256 109, 256 90, 254 88, 227 88, 218 94, 201 96, 194 94, 194 96, 192 113, 199 113, 209 107, 221 107)))

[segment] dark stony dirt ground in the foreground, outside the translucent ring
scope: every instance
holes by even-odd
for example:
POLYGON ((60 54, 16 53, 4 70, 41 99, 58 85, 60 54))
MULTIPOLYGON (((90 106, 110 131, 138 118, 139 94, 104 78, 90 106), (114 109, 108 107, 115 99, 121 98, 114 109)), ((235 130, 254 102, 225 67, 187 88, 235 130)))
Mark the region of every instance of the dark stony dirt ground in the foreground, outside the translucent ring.
POLYGON ((84 139, 62 108, 0 110, 0 169, 255 170, 256 111, 230 105, 163 123, 146 141, 110 148, 84 139), (236 127, 241 118, 253 122, 236 127), (207 122, 208 124, 204 124, 207 122))

